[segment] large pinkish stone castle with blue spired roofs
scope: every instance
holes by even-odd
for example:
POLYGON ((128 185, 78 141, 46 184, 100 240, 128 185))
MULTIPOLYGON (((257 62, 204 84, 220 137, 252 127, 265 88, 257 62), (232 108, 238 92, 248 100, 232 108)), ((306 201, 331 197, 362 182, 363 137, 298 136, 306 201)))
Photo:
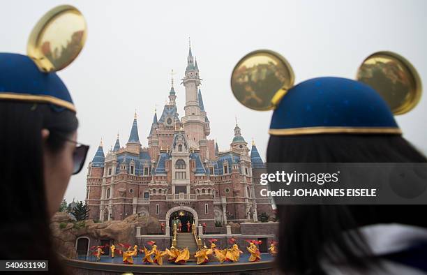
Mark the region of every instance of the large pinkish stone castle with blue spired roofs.
POLYGON ((227 222, 257 221, 257 214, 272 213, 269 198, 260 196, 262 158, 251 150, 237 125, 227 151, 219 151, 210 134, 204 109, 197 61, 188 52, 182 81, 185 114, 179 117, 174 82, 169 103, 149 128, 148 147, 142 147, 133 119, 126 147, 119 135, 105 156, 101 142, 87 174, 89 218, 121 220, 131 214, 154 216, 170 230, 175 219, 203 224, 206 232, 227 222), (249 153, 250 151, 250 153, 249 153))

